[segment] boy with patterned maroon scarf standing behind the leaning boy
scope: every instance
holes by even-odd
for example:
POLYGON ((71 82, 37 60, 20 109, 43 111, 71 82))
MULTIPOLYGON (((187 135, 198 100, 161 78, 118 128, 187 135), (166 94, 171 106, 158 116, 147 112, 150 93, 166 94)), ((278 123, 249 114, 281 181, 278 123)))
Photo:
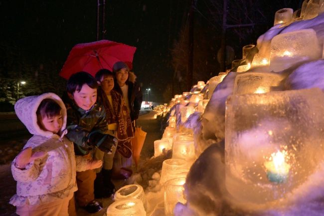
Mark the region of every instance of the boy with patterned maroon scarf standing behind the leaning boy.
MULTIPOLYGON (((98 100, 102 101, 106 108, 106 119, 114 130, 119 140, 117 150, 125 157, 131 157, 132 146, 130 138, 134 136, 131 117, 121 94, 113 90, 114 76, 107 69, 99 70, 95 78, 101 88, 98 89, 98 100)), ((116 149, 115 149, 116 150, 116 149)), ((97 198, 110 197, 115 192, 115 186, 111 181, 113 160, 115 151, 107 154, 99 149, 95 150, 95 159, 103 160, 103 169, 97 169, 95 180, 95 196, 97 198)))

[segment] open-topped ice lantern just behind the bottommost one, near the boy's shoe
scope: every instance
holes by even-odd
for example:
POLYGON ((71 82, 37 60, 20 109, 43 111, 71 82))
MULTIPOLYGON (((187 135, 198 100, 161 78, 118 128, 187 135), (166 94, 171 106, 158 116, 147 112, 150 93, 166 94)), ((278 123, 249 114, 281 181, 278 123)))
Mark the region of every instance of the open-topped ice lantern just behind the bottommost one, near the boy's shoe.
POLYGON ((140 185, 126 185, 120 188, 114 195, 114 200, 139 199, 146 206, 146 197, 144 189, 140 185))

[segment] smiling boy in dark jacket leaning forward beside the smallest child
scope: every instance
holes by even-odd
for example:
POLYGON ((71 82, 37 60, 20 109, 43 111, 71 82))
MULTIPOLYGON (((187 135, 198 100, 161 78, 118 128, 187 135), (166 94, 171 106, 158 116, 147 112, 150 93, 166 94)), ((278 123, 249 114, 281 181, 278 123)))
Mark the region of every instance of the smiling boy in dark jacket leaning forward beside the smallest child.
MULTIPOLYGON (((67 95, 63 101, 67 109, 66 136, 74 143, 75 154, 91 158, 92 147, 103 152, 112 152, 118 140, 108 133, 105 107, 97 102, 98 83, 86 72, 73 74, 67 82, 67 95), (67 97, 68 96, 68 97, 67 97)), ((77 172, 78 191, 75 194, 80 207, 89 213, 103 209, 94 197, 94 170, 77 172)))

